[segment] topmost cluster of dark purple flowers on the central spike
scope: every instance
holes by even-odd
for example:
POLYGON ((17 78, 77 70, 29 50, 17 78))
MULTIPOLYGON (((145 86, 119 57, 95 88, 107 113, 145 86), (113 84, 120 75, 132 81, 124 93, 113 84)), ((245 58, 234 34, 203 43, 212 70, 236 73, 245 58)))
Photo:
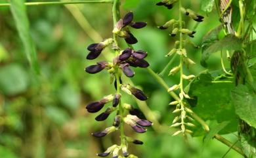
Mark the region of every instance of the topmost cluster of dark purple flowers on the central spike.
POLYGON ((123 18, 121 18, 116 27, 113 30, 113 33, 119 37, 123 37, 125 41, 131 45, 138 42, 136 37, 129 31, 129 26, 131 28, 140 29, 146 26, 146 22, 133 22, 133 12, 128 12, 123 18))

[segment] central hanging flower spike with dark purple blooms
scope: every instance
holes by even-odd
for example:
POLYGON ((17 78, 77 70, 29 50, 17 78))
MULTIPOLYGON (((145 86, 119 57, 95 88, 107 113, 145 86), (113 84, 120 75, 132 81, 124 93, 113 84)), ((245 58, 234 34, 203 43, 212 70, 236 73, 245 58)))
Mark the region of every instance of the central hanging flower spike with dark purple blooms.
POLYGON ((93 43, 87 47, 87 50, 89 50, 89 54, 87 55, 88 60, 97 58, 106 47, 112 47, 116 52, 116 57, 111 62, 96 62, 95 65, 85 68, 87 73, 92 74, 106 69, 112 79, 112 84, 116 89, 115 94, 104 96, 101 100, 91 102, 86 106, 89 113, 96 113, 103 109, 106 104, 110 102, 112 103, 112 105, 102 111, 102 113, 95 118, 96 121, 104 121, 109 115, 116 113, 112 126, 107 127, 100 132, 94 132, 93 136, 103 137, 116 130, 120 130, 121 144, 119 146, 114 144, 103 153, 97 154, 99 157, 106 157, 112 154, 112 157, 117 158, 119 157, 119 151, 121 151, 123 153, 121 157, 135 158, 135 155, 129 155, 127 151, 129 147, 128 144, 143 144, 143 142, 125 136, 124 124, 129 125, 133 130, 135 130, 135 132, 139 133, 146 132, 146 127, 150 127, 152 125, 150 121, 139 118, 139 109, 135 109, 130 104, 121 102, 121 90, 125 92, 125 94, 133 95, 139 100, 148 99, 142 90, 123 83, 121 79, 123 78, 123 75, 126 77, 133 77, 135 75, 135 72, 130 67, 147 68, 149 66, 148 62, 144 60, 147 56, 147 52, 144 50, 133 50, 131 48, 121 50, 117 43, 117 37, 124 38, 126 43, 130 45, 137 43, 138 41, 136 37, 131 33, 131 31, 129 31, 129 27, 139 29, 144 28, 145 26, 145 22, 133 22, 133 12, 129 12, 115 24, 114 30, 112 31, 114 33, 113 39, 105 39, 100 43, 93 43))

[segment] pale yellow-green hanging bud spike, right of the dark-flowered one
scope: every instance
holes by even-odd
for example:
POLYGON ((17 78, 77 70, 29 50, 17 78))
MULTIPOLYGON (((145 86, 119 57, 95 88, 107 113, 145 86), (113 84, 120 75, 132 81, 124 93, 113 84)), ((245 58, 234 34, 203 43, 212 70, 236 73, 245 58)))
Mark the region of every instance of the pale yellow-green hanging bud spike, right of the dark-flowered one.
MULTIPOLYGON (((169 104, 171 106, 176 106, 173 113, 177 114, 175 119, 173 119, 171 127, 179 127, 179 130, 175 132, 173 136, 181 133, 185 136, 185 134, 192 133, 192 131, 186 127, 194 127, 194 124, 190 123, 190 121, 193 121, 193 119, 189 116, 189 113, 191 114, 193 113, 193 111, 187 106, 186 99, 191 98, 184 90, 184 80, 190 81, 195 77, 195 75, 185 75, 184 64, 186 64, 186 66, 190 66, 191 64, 195 64, 195 62, 187 56, 187 51, 184 48, 184 42, 186 42, 186 40, 184 40, 184 35, 188 35, 188 37, 194 37, 196 31, 188 30, 184 27, 185 22, 182 20, 182 16, 189 16, 196 22, 202 22, 203 16, 197 14, 191 9, 184 9, 182 7, 182 0, 162 0, 156 5, 165 6, 167 7, 167 9, 172 9, 175 4, 179 5, 179 19, 171 19, 162 26, 159 26, 158 28, 160 28, 160 30, 167 30, 168 28, 170 28, 171 31, 169 35, 171 35, 171 37, 179 35, 179 40, 175 41, 175 48, 171 49, 171 51, 167 53, 166 56, 172 56, 173 54, 177 54, 180 56, 179 65, 175 66, 169 71, 169 75, 175 75, 176 73, 180 73, 180 82, 179 84, 170 87, 168 91, 179 92, 179 101, 173 101, 169 104)), ((190 43, 192 42, 190 41, 190 43)))

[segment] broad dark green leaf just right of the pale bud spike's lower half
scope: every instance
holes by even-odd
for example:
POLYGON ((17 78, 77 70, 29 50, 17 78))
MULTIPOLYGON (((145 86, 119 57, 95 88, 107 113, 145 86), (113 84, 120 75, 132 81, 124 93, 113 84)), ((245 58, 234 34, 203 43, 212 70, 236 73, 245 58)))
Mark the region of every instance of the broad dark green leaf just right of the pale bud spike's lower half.
POLYGON ((202 73, 190 85, 189 94, 197 100, 196 106, 192 109, 204 120, 217 120, 218 123, 230 121, 226 127, 228 130, 223 130, 223 133, 236 131, 238 120, 230 97, 234 85, 211 83, 211 79, 210 73, 202 73))

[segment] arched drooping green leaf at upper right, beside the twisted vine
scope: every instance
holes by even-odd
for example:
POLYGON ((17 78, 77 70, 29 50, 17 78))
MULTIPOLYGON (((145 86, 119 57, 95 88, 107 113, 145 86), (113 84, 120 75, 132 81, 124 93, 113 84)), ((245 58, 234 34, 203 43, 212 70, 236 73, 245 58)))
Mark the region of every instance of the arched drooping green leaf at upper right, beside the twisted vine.
POLYGON ((206 66, 206 60, 214 52, 221 50, 242 50, 242 40, 238 39, 235 35, 226 35, 223 39, 210 43, 202 50, 201 64, 202 66, 206 66))

